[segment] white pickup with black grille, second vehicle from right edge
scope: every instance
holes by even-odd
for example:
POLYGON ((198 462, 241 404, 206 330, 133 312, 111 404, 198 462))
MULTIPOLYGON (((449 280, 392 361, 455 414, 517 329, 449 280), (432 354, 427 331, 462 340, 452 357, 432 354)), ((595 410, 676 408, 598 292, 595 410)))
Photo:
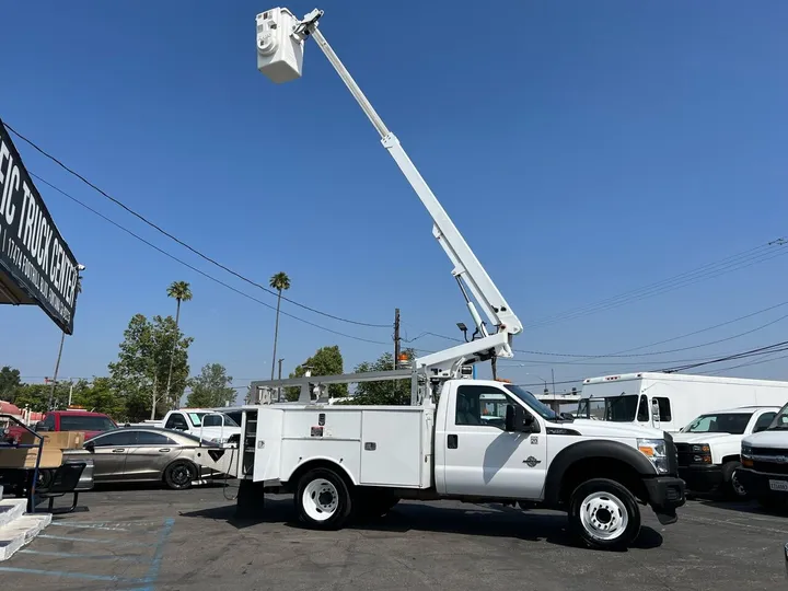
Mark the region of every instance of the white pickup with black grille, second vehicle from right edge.
POLYGON ((740 406, 696 417, 673 434, 679 453, 679 476, 693 493, 722 493, 745 499, 739 478, 742 440, 768 428, 778 406, 740 406))

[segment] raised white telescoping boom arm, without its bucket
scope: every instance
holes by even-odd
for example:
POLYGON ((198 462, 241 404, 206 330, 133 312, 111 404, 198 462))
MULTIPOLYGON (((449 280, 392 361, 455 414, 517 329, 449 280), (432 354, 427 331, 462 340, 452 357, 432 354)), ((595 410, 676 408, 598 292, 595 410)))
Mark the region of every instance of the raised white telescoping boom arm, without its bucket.
MULTIPOLYGON (((285 11, 286 9, 275 10, 285 11)), ((290 14, 291 13, 288 11, 288 15, 290 14)), ((403 172, 408 183, 410 183, 410 186, 416 192, 416 195, 418 195, 419 199, 421 199, 421 202, 427 208, 427 211, 433 222, 432 234, 436 239, 438 239, 438 242, 443 247, 443 251, 445 251, 451 263, 454 265, 452 275, 462 280, 473 294, 476 302, 484 310, 489 322, 497 328, 495 334, 488 334, 473 301, 467 297, 465 290, 463 289, 468 311, 471 312, 474 324, 482 335, 482 338, 419 358, 416 360, 416 366, 449 371, 456 363, 466 361, 474 362, 478 360, 479 355, 483 359, 489 359, 493 356, 512 357, 511 337, 522 332, 522 323, 520 322, 520 318, 517 317, 507 301, 503 299, 501 292, 490 279, 489 275, 487 275, 487 271, 478 262, 476 255, 465 242, 465 239, 463 239, 460 231, 449 218, 449 215, 445 212, 432 190, 429 188, 414 163, 408 158, 407 153, 399 143, 399 140, 385 126, 383 119, 381 119, 378 115, 375 109, 367 100, 367 96, 364 96, 363 92, 361 92, 359 85, 334 53, 334 49, 332 49, 328 42, 326 42, 325 37, 318 31, 317 20, 322 15, 322 10, 313 10, 304 16, 303 20, 294 20, 296 24, 293 26, 291 37, 299 44, 303 44, 310 35, 314 37, 318 47, 323 50, 323 54, 325 54, 328 61, 332 66, 334 66, 334 69, 339 74, 343 82, 345 82, 350 93, 356 97, 356 101, 361 106, 361 109, 364 112, 367 117, 369 117, 370 121, 380 134, 383 146, 386 150, 389 150, 389 153, 394 159, 394 162, 397 163, 397 166, 399 166, 399 170, 403 172)), ((259 22, 258 15, 257 48, 258 51, 262 51, 262 48, 266 46, 266 43, 270 45, 270 42, 266 40, 265 43, 260 43, 260 35, 268 35, 270 37, 270 33, 266 33, 265 26, 260 27, 259 22)), ((266 37, 266 39, 268 37, 266 37)), ((296 58, 298 60, 298 76, 300 76, 301 67, 300 57, 301 56, 299 55, 298 58, 296 58)))

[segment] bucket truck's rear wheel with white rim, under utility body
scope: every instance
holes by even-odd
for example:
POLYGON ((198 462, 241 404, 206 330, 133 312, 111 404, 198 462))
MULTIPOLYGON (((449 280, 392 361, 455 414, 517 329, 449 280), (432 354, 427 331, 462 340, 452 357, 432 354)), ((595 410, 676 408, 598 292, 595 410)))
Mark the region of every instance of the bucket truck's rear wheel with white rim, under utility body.
POLYGON ((350 489, 333 470, 311 470, 299 479, 296 509, 299 520, 313 530, 338 530, 352 510, 350 489))

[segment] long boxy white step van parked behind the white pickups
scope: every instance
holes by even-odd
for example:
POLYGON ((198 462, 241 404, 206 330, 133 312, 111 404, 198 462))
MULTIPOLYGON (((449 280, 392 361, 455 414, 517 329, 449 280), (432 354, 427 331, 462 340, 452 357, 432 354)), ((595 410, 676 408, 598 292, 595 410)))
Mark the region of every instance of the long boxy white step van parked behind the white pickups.
POLYGON ((738 406, 788 402, 788 382, 640 372, 583 381, 576 417, 679 432, 695 417, 738 406))

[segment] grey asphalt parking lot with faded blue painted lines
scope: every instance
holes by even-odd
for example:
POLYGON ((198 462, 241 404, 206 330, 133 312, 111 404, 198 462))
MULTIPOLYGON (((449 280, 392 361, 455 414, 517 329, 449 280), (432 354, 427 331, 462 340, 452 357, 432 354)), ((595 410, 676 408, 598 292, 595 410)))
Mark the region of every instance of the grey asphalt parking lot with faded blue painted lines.
POLYGON ((292 500, 233 518, 234 488, 94 490, 0 564, 3 591, 30 590, 715 590, 788 589, 788 519, 749 503, 688 501, 637 547, 576 546, 565 515, 462 503, 398 505, 363 528, 313 532, 292 500))

